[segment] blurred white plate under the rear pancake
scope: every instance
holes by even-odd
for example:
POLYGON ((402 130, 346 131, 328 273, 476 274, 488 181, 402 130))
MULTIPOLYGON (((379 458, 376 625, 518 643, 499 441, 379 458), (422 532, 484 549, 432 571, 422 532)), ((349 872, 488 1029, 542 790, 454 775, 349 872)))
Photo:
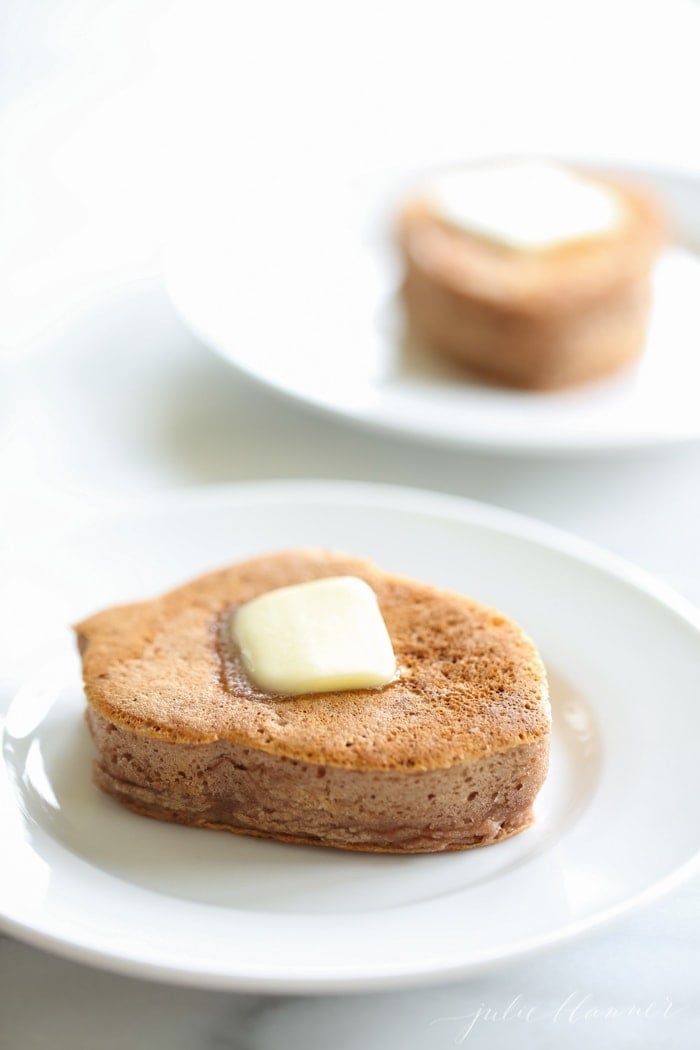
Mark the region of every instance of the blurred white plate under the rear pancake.
MULTIPOLYGON (((304 185, 198 202, 173 231, 168 285, 186 322, 269 390, 424 442, 510 453, 603 452, 700 436, 700 181, 611 168, 665 202, 641 363, 564 393, 510 391, 403 343, 388 228, 410 181, 304 185), (263 204, 261 204, 263 202, 263 204), (236 210, 236 205, 240 207, 236 210), (688 247, 690 246, 690 247, 688 247)), ((262 176, 261 176, 262 178, 262 176)))

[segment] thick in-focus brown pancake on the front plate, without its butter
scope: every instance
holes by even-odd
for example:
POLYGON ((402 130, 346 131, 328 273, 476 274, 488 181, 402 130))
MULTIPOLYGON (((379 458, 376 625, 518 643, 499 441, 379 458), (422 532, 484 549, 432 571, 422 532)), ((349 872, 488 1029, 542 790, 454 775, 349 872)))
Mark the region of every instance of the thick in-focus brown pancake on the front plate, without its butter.
POLYGON ((76 628, 100 788, 139 813, 298 843, 463 849, 526 827, 545 779, 542 660, 507 617, 336 551, 267 554, 76 628), (355 575, 397 656, 382 688, 283 696, 251 682, 232 612, 355 575))

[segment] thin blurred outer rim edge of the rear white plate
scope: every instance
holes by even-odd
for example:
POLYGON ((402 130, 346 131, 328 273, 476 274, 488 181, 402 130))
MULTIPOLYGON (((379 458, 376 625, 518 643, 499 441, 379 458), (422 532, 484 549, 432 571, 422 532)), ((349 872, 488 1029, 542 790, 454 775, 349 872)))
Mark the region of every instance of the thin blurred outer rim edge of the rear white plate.
MULTIPOLYGON (((596 159, 590 155, 577 156, 567 153, 566 155, 553 158, 553 154, 549 151, 545 151, 542 155, 545 159, 556 160, 581 168, 607 171, 610 174, 621 177, 637 177, 642 181, 646 178, 652 182, 673 181, 677 184, 683 184, 687 189, 695 188, 696 190, 700 190, 700 172, 696 172, 690 168, 671 167, 615 156, 600 156, 596 159)), ((497 160, 509 156, 512 156, 512 152, 494 152, 489 154, 488 159, 497 160)), ((457 163, 459 162, 446 162, 445 164, 441 164, 440 167, 450 167, 457 163)), ((391 195, 396 196, 400 186, 404 186, 404 188, 410 186, 421 175, 425 176, 426 171, 433 169, 434 165, 426 165, 408 174, 405 172, 394 172, 389 178, 384 177, 387 183, 390 182, 395 191, 391 195)), ((384 187, 383 191, 380 188, 380 191, 377 193, 378 198, 380 196, 385 197, 386 195, 386 187, 384 187)), ((700 243, 698 245, 695 242, 691 244, 690 239, 683 235, 682 230, 678 231, 678 233, 677 242, 674 242, 669 247, 690 247, 697 254, 700 243)), ((197 319, 196 316, 193 316, 191 309, 188 308, 187 293, 183 291, 182 278, 178 276, 179 264, 174 261, 181 257, 182 252, 176 253, 173 250, 171 239, 164 259, 165 290, 175 313, 194 338, 257 390, 279 399, 282 403, 296 405, 298 408, 304 410, 316 418, 331 420, 336 423, 342 422, 345 426, 351 428, 357 427, 364 433, 393 437, 425 447, 451 448, 463 452, 471 450, 494 456, 536 456, 538 458, 560 459, 585 456, 599 457, 604 454, 631 455, 639 450, 673 447, 700 440, 700 429, 691 428, 682 432, 666 432, 662 434, 652 434, 649 432, 643 435, 625 434, 614 438, 611 438, 610 435, 598 435, 597 433, 589 434, 586 439, 577 435, 568 435, 565 436, 564 440, 559 439, 556 443, 552 443, 551 440, 542 438, 536 434, 506 435, 500 438, 494 438, 492 435, 484 437, 473 430, 467 435, 436 434, 427 430, 416 430, 408 423, 388 422, 374 415, 368 416, 365 413, 358 413, 352 407, 330 404, 315 396, 305 396, 302 392, 281 383, 273 382, 270 378, 255 371, 245 360, 241 360, 239 356, 225 349, 220 341, 207 331, 206 323, 201 319, 197 319)), ((567 392, 563 393, 566 394, 567 392)), ((556 397, 556 392, 548 396, 556 397)))

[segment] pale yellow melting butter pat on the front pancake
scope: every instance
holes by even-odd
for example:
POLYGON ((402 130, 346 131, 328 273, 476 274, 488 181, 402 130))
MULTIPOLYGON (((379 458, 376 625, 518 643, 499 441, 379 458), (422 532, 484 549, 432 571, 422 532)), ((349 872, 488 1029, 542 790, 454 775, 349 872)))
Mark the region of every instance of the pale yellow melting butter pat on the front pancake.
POLYGON ((396 677, 377 597, 356 576, 268 591, 235 612, 231 630, 246 673, 268 692, 365 689, 396 677))

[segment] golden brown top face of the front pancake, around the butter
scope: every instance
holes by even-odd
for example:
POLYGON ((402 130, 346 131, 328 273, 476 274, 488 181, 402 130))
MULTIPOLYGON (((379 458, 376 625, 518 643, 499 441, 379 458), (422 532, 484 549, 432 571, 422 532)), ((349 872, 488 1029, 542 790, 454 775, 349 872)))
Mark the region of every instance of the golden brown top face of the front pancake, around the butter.
POLYGON ((545 669, 519 627, 470 598, 335 551, 255 558, 99 612, 76 630, 90 706, 173 743, 226 739, 304 762, 417 772, 549 732, 545 669), (277 587, 345 574, 377 594, 397 679, 294 697, 256 689, 227 640, 231 611, 277 587))

